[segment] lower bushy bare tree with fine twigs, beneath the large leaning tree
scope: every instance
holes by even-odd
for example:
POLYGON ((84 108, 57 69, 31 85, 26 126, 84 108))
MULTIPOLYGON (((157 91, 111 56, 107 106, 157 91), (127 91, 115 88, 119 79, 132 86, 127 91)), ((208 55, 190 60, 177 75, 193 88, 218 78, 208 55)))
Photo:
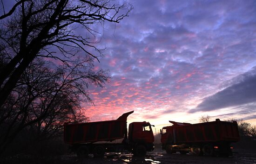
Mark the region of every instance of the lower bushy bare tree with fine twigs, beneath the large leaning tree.
POLYGON ((86 121, 81 101, 89 101, 88 86, 108 82, 106 70, 94 72, 90 56, 57 69, 51 62, 35 60, 0 110, 0 155, 18 133, 30 127, 38 139, 58 136, 64 122, 86 121))

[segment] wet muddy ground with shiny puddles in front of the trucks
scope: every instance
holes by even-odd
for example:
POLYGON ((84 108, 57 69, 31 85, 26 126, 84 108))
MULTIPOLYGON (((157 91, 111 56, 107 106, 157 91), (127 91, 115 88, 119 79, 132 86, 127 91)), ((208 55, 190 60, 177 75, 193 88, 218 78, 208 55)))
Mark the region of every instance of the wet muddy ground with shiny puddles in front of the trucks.
MULTIPOLYGON (((191 154, 167 154, 161 149, 148 152, 144 158, 131 153, 106 153, 104 158, 78 159, 75 155, 65 156, 74 164, 256 164, 256 150, 236 150, 232 157, 205 157, 191 154)), ((65 160, 65 159, 64 159, 65 160)))

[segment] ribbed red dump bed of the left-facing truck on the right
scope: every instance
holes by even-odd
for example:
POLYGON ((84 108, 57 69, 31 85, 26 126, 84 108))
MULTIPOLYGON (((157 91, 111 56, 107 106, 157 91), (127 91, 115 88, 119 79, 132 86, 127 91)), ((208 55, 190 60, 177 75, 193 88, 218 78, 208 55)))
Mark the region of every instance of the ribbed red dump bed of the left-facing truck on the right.
POLYGON ((199 124, 173 126, 177 144, 194 142, 237 142, 239 132, 237 123, 212 121, 199 124))

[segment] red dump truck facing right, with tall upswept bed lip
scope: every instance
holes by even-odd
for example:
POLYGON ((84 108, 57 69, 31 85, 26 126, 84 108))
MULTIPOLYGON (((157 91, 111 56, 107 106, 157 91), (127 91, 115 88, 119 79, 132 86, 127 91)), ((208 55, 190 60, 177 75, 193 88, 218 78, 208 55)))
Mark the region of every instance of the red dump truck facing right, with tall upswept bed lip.
POLYGON ((133 112, 122 114, 117 120, 65 123, 64 141, 80 157, 90 153, 103 157, 105 152, 122 151, 144 156, 147 151, 154 150, 152 125, 146 121, 132 122, 127 134, 127 117, 133 112))

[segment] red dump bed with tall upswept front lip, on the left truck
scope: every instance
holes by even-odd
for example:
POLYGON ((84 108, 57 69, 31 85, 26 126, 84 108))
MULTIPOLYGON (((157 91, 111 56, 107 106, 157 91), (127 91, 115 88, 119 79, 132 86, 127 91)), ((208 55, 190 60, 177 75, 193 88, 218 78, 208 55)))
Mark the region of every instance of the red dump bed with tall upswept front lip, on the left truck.
POLYGON ((134 111, 122 114, 117 120, 65 123, 64 141, 67 144, 112 141, 127 137, 127 117, 134 111))

